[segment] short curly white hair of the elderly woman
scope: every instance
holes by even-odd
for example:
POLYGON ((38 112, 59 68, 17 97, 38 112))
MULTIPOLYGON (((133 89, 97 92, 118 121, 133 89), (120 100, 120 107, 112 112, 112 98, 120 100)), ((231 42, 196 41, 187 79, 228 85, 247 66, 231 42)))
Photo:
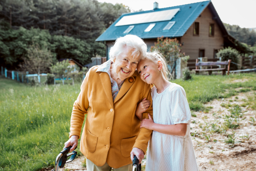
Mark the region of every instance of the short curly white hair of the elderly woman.
POLYGON ((145 58, 147 52, 147 45, 137 35, 125 35, 116 39, 116 42, 111 46, 109 51, 109 58, 114 60, 116 56, 122 54, 125 48, 132 49, 133 57, 140 56, 140 59, 145 58))

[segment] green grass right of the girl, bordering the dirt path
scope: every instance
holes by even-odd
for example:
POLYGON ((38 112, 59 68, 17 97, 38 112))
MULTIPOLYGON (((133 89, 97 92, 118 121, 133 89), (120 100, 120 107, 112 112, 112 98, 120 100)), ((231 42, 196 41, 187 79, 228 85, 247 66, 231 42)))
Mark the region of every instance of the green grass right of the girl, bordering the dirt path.
POLYGON ((247 92, 256 85, 256 73, 234 74, 234 75, 192 75, 192 80, 181 79, 171 81, 181 85, 186 91, 186 97, 191 110, 204 111, 205 103, 213 99, 222 99, 235 96, 235 88, 244 87, 239 92, 247 92), (230 83, 235 79, 246 78, 248 81, 230 83))

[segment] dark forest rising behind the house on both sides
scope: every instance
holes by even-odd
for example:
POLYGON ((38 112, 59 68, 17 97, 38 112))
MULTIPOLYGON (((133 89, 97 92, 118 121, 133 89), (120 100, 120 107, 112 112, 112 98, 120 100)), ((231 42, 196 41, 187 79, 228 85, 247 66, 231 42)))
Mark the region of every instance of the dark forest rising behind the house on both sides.
MULTIPOLYGON (((95 42, 128 6, 97 0, 1 0, 0 63, 21 70, 28 49, 50 52, 52 63, 73 58, 82 65, 106 55, 104 42, 95 42)), ((256 51, 256 32, 224 23, 234 38, 256 51)))

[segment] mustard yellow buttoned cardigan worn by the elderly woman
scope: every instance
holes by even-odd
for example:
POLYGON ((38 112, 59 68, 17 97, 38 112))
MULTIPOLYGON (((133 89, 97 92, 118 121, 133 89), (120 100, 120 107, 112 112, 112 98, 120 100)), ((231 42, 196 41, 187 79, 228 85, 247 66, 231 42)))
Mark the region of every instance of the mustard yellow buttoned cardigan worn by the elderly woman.
POLYGON ((143 119, 148 118, 148 113, 153 116, 151 88, 135 71, 125 79, 113 101, 109 75, 96 72, 98 67, 92 67, 81 84, 81 92, 73 105, 70 136, 80 138, 87 114, 80 142, 81 153, 95 165, 102 166, 107 162, 109 166, 119 168, 132 163, 132 148, 140 148, 146 153, 152 130, 140 129, 135 110, 146 98, 151 105, 143 113, 143 119))

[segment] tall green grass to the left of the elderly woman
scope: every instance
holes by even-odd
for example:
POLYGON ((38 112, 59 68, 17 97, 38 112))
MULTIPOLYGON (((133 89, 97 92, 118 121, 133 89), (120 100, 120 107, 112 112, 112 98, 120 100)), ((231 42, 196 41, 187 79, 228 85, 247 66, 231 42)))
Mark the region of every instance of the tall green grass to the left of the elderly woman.
POLYGON ((31 87, 0 77, 0 171, 53 166, 79 92, 79 84, 31 87))

